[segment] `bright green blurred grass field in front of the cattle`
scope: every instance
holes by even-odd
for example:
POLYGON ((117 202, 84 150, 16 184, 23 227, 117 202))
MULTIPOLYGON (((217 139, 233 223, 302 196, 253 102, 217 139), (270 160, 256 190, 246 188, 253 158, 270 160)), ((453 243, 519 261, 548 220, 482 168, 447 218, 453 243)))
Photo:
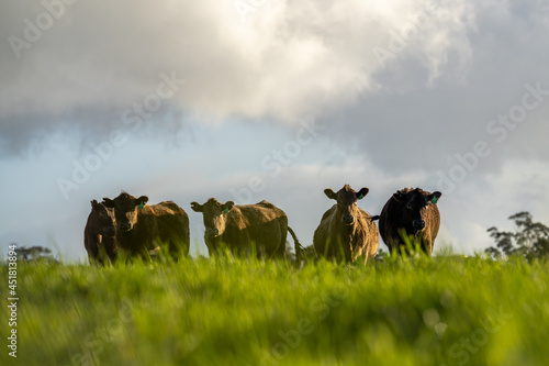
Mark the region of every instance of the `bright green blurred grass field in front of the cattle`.
POLYGON ((458 256, 19 263, 0 365, 548 365, 548 282, 546 264, 458 256))

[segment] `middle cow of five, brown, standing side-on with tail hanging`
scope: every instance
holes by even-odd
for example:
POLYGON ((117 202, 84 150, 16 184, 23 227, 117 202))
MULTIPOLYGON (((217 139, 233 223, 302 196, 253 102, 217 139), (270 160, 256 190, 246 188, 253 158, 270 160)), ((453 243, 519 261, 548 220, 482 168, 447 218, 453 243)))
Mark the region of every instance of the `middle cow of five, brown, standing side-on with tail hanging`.
POLYGON ((204 204, 191 202, 191 208, 203 215, 210 256, 226 247, 233 255, 255 249, 258 258, 283 258, 288 232, 294 240, 298 257, 301 256, 302 247, 288 226, 288 217, 272 203, 265 200, 256 204, 221 203, 210 198, 204 204))

